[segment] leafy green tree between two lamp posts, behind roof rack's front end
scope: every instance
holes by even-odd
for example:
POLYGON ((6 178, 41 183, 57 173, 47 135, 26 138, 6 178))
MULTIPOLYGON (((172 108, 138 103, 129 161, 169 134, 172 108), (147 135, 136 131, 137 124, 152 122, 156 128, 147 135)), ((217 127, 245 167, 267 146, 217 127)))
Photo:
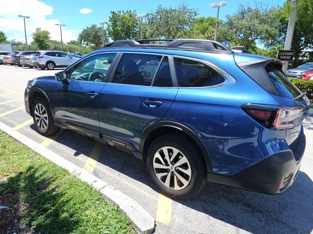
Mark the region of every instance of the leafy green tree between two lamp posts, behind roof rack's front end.
POLYGON ((135 11, 111 11, 108 34, 112 40, 137 39, 138 30, 135 11))

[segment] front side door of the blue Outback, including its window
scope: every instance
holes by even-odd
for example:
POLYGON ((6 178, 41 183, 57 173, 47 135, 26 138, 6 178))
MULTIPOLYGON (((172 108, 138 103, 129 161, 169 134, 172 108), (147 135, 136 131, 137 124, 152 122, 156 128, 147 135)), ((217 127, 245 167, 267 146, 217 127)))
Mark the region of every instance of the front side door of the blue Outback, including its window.
POLYGON ((53 97, 56 121, 100 131, 99 98, 115 55, 86 58, 67 70, 67 82, 56 82, 53 97))

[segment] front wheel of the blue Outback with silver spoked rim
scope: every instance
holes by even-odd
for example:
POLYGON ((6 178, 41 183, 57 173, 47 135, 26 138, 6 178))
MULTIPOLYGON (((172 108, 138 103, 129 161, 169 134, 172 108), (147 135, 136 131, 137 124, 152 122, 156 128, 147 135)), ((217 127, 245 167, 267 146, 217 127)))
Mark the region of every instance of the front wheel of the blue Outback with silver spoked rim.
POLYGON ((41 135, 50 136, 60 131, 60 127, 53 123, 52 113, 45 99, 35 99, 32 104, 32 114, 36 129, 41 135))

